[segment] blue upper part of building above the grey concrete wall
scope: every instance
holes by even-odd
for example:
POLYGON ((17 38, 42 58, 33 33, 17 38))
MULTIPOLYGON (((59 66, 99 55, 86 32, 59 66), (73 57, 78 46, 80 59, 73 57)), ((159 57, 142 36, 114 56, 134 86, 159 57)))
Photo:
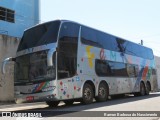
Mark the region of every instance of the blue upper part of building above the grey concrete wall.
POLYGON ((0 0, 0 34, 21 37, 39 15, 39 0, 0 0))

